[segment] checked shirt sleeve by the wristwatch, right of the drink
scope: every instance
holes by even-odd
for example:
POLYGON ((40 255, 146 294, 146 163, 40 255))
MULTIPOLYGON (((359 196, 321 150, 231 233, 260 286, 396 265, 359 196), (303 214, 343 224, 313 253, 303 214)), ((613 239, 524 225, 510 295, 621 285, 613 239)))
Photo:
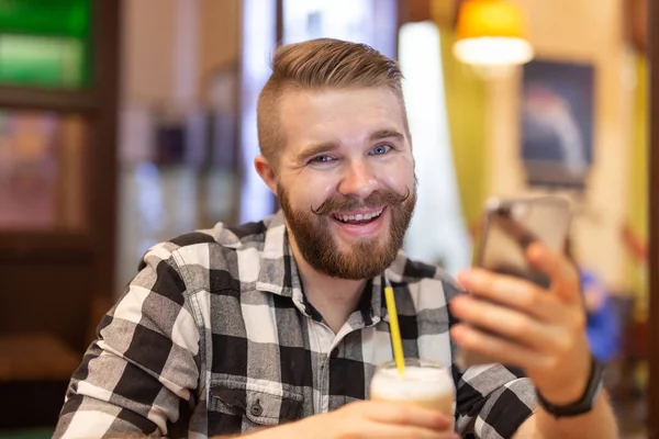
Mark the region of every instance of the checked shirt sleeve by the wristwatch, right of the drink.
POLYGON ((510 438, 536 407, 533 383, 512 368, 471 367, 457 382, 456 428, 463 438, 510 438))

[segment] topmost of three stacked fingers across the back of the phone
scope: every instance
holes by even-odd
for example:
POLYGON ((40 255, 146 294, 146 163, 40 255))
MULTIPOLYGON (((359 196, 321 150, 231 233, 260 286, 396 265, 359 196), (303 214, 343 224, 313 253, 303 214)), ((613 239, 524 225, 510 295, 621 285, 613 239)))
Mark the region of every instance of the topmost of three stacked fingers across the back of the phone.
POLYGON ((560 302, 548 291, 524 279, 470 269, 458 275, 458 281, 471 294, 523 311, 543 320, 551 320, 560 313, 560 302))

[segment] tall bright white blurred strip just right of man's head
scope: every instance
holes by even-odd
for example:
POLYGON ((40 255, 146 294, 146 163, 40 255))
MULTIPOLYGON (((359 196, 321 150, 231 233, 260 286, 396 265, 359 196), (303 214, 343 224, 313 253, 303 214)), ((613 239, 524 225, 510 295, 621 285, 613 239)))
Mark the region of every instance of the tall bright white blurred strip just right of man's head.
POLYGON ((435 23, 401 26, 399 60, 418 179, 404 250, 410 258, 442 263, 455 275, 469 267, 471 243, 454 167, 440 55, 435 23))

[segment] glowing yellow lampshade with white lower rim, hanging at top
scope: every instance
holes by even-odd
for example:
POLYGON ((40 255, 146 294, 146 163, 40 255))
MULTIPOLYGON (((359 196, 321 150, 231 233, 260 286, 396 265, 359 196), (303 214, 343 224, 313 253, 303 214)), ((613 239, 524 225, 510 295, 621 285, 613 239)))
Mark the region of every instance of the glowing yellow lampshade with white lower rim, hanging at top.
POLYGON ((466 0, 460 7, 454 54, 480 67, 528 63, 533 48, 522 10, 505 0, 466 0))

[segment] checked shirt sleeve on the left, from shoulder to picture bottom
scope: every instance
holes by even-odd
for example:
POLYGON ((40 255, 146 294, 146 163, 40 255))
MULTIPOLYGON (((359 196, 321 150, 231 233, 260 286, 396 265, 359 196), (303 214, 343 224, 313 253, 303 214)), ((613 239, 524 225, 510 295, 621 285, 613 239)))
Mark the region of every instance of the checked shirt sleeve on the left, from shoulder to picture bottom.
POLYGON ((152 248, 75 372, 55 438, 165 436, 199 380, 199 329, 171 244, 152 248))

